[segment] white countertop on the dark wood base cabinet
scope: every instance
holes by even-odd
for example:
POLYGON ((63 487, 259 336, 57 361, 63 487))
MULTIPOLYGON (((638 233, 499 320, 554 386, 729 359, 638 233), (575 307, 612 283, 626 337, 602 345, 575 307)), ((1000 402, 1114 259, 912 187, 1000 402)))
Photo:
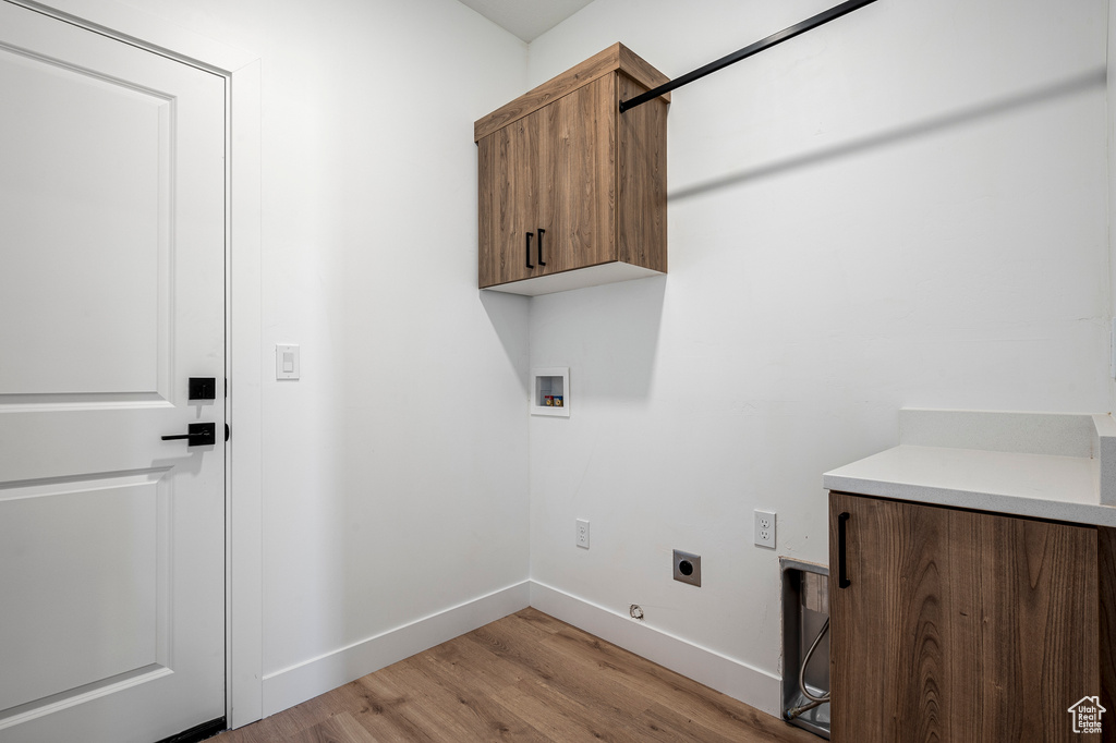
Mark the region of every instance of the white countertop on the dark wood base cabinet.
POLYGON ((1100 502, 1100 460, 899 444, 825 473, 827 490, 1116 527, 1100 502))

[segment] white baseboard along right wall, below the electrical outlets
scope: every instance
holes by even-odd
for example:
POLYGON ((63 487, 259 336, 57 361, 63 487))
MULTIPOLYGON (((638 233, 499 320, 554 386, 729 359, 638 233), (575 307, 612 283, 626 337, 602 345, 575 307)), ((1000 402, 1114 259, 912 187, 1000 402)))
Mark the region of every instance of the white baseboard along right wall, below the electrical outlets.
POLYGON ((556 619, 618 645, 661 666, 728 694, 776 717, 781 708, 779 676, 648 627, 538 581, 531 606, 556 619))

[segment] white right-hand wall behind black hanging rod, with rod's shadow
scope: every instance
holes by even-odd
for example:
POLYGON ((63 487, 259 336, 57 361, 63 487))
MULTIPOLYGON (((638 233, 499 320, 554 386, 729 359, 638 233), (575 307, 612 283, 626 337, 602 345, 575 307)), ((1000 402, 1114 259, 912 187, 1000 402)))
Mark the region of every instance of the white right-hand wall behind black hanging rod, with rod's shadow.
MULTIPOLYGON (((596 0, 528 83, 615 41, 676 77, 830 4, 596 0)), ((1106 6, 887 0, 675 91, 668 277, 532 300, 571 378, 530 424, 532 579, 773 681, 778 556, 828 562, 821 473, 899 407, 1110 409, 1106 6)))

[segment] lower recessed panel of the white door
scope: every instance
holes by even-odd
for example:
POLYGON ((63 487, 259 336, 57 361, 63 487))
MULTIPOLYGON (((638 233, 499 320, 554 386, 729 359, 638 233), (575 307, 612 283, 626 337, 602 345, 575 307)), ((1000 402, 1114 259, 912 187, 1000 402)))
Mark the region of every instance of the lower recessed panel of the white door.
POLYGON ((169 515, 164 474, 0 492, 0 543, 12 556, 0 570, 0 657, 23 669, 0 675, 0 708, 166 665, 158 653, 166 607, 157 594, 169 531, 161 523, 169 515), (30 532, 29 523, 49 529, 30 532))

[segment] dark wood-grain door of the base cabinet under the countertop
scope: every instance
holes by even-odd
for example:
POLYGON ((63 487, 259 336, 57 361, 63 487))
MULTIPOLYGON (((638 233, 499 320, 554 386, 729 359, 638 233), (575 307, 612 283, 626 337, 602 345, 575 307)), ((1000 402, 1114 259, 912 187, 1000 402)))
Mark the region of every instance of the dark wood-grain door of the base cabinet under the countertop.
POLYGON ((1096 529, 845 493, 829 519, 836 743, 1078 737, 1068 708, 1100 693, 1096 529))

